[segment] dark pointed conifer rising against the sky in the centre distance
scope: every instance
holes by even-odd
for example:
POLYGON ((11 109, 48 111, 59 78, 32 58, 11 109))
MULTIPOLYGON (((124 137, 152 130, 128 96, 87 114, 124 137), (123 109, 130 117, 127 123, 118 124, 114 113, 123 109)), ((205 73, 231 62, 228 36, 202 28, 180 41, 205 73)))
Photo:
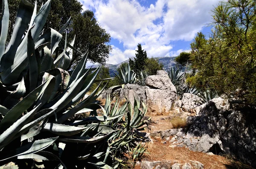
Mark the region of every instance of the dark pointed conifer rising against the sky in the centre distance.
POLYGON ((131 69, 143 70, 145 68, 146 59, 148 59, 147 52, 142 49, 141 44, 138 44, 137 47, 138 50, 136 51, 137 54, 135 54, 134 61, 130 59, 129 65, 131 69))

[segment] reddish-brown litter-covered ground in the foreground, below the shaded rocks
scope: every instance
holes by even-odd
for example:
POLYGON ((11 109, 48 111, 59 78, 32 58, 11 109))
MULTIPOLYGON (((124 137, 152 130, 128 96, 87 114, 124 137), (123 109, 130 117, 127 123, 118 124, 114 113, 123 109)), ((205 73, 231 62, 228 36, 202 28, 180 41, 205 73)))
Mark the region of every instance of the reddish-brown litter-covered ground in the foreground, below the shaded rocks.
MULTIPOLYGON (((184 147, 169 147, 170 143, 163 144, 160 141, 155 141, 154 144, 148 145, 148 152, 144 154, 142 161, 177 161, 180 164, 186 162, 199 161, 204 164, 204 169, 252 169, 250 166, 239 161, 234 161, 232 158, 223 157, 220 155, 207 155, 203 152, 193 152, 184 147)), ((136 169, 140 169, 139 166, 136 169)))

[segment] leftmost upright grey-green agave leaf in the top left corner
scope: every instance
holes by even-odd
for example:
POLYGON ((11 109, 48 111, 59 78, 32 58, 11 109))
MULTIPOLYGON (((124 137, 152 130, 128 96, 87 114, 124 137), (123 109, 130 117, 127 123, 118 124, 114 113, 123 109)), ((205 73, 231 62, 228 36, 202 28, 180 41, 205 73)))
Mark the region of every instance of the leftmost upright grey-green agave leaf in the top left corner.
POLYGON ((8 34, 8 27, 9 27, 9 8, 8 8, 8 1, 2 0, 2 14, 0 16, 1 20, 1 35, 0 35, 0 60, 3 56, 5 51, 6 39, 8 34))

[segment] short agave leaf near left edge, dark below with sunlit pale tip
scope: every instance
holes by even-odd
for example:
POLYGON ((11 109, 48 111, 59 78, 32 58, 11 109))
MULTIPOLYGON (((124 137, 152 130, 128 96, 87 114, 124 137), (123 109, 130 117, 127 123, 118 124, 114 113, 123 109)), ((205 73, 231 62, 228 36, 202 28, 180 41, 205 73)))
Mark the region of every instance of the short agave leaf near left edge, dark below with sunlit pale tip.
POLYGON ((11 109, 15 104, 20 101, 20 98, 24 96, 26 93, 26 87, 24 83, 24 79, 21 80, 17 89, 12 92, 7 98, 3 101, 3 106, 11 109))

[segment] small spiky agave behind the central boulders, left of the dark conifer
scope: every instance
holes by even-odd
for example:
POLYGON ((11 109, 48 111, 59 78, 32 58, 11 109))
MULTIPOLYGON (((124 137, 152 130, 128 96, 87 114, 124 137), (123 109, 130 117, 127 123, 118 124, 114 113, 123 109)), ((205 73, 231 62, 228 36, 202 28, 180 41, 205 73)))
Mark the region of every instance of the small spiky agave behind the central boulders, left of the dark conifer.
POLYGON ((136 82, 136 73, 131 70, 130 65, 121 65, 120 74, 116 74, 116 78, 119 79, 121 84, 132 84, 136 82))

